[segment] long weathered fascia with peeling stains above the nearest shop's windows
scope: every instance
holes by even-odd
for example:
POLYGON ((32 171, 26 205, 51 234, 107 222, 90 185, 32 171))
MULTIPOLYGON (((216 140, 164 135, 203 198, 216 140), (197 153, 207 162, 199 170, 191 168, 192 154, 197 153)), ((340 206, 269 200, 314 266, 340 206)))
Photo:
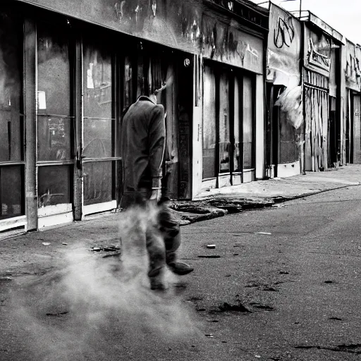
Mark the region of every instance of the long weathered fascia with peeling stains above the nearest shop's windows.
POLYGON ((240 30, 231 13, 233 6, 225 16, 212 8, 213 1, 202 0, 18 1, 263 73, 262 39, 240 30))

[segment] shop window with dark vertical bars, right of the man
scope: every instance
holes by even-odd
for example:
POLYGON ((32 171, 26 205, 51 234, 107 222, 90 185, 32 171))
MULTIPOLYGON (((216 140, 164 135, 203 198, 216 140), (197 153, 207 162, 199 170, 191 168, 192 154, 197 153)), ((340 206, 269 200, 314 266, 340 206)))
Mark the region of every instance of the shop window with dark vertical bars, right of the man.
POLYGON ((255 168, 254 87, 250 75, 204 66, 203 179, 255 168))

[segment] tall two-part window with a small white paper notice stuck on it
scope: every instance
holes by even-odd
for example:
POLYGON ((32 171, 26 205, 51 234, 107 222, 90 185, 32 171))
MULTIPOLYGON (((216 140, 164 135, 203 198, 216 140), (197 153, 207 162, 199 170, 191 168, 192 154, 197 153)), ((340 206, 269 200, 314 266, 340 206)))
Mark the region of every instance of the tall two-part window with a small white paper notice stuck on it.
POLYGON ((38 206, 71 203, 73 170, 70 42, 66 31, 37 25, 38 206))

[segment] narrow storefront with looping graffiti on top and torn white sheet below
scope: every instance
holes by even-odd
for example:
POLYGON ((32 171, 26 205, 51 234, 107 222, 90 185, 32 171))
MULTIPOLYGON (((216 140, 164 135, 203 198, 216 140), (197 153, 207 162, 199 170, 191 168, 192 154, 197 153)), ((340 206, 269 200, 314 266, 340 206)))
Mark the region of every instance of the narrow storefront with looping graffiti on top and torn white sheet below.
POLYGON ((300 174, 303 112, 300 21, 279 6, 269 7, 267 46, 267 176, 300 174))

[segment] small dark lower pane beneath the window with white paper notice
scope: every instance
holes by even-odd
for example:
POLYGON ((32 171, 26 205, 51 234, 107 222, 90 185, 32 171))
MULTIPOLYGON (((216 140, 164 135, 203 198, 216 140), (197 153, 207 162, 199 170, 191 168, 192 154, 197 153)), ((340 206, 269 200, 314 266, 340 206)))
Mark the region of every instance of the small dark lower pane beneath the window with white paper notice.
POLYGON ((37 176, 39 207, 71 203, 71 166, 40 166, 37 176))

